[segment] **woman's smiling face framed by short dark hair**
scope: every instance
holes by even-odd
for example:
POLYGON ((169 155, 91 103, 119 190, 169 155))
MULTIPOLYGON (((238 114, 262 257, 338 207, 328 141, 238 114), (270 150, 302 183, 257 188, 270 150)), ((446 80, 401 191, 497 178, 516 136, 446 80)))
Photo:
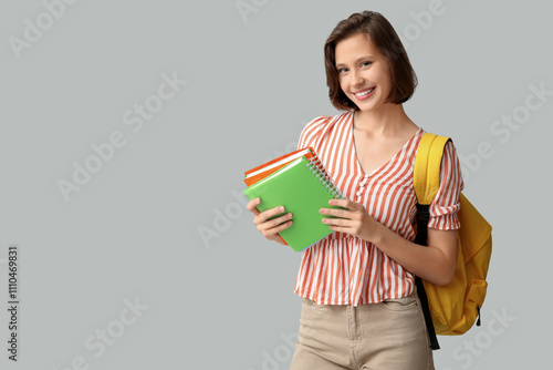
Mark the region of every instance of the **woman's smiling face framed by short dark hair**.
POLYGON ((367 34, 340 41, 334 54, 340 86, 361 111, 376 111, 386 104, 392 89, 388 65, 367 34))

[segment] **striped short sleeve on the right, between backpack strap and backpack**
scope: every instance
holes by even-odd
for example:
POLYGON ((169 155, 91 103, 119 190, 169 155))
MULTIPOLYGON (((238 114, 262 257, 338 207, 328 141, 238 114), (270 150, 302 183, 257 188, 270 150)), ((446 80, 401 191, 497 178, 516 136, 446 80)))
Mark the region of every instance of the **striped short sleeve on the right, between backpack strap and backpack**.
POLYGON ((444 148, 440 167, 440 188, 430 204, 430 219, 428 227, 450 230, 461 227, 457 213, 461 205, 459 193, 465 184, 457 150, 451 141, 444 148))

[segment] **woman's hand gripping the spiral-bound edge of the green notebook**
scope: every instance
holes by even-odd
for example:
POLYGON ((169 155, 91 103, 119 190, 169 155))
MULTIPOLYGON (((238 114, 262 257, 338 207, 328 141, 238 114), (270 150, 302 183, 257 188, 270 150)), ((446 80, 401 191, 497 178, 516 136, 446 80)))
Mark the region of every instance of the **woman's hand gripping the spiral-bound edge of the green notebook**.
POLYGON ((340 206, 346 209, 321 208, 324 216, 336 216, 340 218, 324 217, 323 224, 328 225, 331 230, 347 233, 367 241, 374 241, 378 237, 382 226, 376 219, 371 217, 365 207, 357 202, 349 199, 331 199, 331 206, 340 206))

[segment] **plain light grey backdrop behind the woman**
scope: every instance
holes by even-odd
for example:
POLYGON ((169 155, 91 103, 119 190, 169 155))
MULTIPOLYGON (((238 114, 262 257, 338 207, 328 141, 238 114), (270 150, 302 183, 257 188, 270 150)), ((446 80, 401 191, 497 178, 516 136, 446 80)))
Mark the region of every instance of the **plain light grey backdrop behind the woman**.
POLYGON ((22 39, 44 4, 0 6, 1 297, 9 245, 21 263, 19 361, 7 359, 2 309, 1 368, 61 370, 82 357, 87 369, 286 369, 301 256, 257 233, 233 194, 246 169, 294 148, 306 122, 338 113, 323 43, 365 9, 410 40, 419 86, 408 115, 465 157, 483 142, 493 151, 465 191, 494 227, 483 326, 441 337, 436 368, 550 363, 553 96, 504 143, 490 130, 521 112, 531 84, 553 91, 552 7, 444 0, 422 28, 413 14, 432 1, 243 0, 247 14, 237 3, 77 1, 20 59, 9 38, 22 39), (164 73, 187 83, 134 133, 123 115, 164 73), (125 146, 65 202, 58 181, 116 131, 125 146), (121 329, 125 299, 148 309, 96 357, 84 342, 121 329), (510 319, 492 336, 493 312, 510 319))

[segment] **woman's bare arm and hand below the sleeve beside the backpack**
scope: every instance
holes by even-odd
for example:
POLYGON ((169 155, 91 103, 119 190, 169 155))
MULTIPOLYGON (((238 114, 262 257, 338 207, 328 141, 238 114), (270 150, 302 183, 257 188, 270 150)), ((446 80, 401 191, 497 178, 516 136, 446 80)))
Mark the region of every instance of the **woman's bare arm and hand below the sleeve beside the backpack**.
POLYGON ((323 223, 332 230, 347 233, 371 241, 406 270, 436 285, 448 284, 455 274, 457 230, 428 229, 428 247, 411 243, 371 217, 365 207, 348 199, 332 199, 333 206, 347 209, 322 208, 323 223))

